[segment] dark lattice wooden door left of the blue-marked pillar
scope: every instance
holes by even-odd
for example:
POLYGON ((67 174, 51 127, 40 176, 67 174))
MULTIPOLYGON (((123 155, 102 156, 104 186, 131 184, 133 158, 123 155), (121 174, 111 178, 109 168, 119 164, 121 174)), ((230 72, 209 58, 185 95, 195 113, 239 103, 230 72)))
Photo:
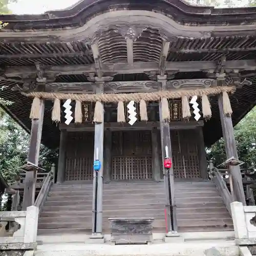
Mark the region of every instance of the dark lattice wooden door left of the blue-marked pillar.
POLYGON ((66 149, 66 180, 93 180, 94 133, 68 133, 66 149))

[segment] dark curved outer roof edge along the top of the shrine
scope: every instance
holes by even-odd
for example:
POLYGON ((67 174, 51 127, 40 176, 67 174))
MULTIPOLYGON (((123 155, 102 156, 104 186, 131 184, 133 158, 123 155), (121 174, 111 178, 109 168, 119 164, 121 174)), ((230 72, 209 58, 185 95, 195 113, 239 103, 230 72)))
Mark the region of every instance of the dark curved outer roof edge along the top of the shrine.
POLYGON ((191 26, 230 26, 253 24, 256 7, 224 8, 192 6, 181 0, 83 0, 69 9, 48 11, 40 15, 2 15, 8 29, 29 30, 79 27, 106 11, 147 10, 160 12, 179 24, 191 26))

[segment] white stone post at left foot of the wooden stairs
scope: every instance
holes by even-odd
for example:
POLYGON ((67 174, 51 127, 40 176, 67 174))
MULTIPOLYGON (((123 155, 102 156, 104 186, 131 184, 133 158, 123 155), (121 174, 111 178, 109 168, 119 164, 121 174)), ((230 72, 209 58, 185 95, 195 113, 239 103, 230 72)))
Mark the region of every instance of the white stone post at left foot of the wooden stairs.
POLYGON ((26 221, 25 221, 25 234, 24 234, 25 244, 36 243, 38 213, 39 213, 38 207, 33 205, 30 207, 27 207, 27 215, 26 215, 26 221))

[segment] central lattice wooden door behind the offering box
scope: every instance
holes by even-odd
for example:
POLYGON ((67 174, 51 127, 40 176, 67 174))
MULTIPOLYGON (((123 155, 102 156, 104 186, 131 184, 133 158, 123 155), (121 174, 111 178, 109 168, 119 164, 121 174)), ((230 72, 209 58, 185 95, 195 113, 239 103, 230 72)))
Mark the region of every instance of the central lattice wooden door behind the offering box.
POLYGON ((152 179, 150 131, 113 132, 112 179, 152 179))

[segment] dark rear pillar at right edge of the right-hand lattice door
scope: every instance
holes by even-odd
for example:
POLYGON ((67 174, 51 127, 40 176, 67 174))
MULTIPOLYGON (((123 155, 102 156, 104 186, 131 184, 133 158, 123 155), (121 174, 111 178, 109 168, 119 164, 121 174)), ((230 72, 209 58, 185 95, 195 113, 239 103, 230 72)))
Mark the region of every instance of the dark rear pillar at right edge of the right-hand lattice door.
POLYGON ((206 151, 205 151, 205 145, 204 145, 203 127, 199 126, 197 128, 197 133, 198 133, 198 158, 199 158, 201 178, 209 179, 208 171, 207 171, 207 159, 206 159, 206 151))

